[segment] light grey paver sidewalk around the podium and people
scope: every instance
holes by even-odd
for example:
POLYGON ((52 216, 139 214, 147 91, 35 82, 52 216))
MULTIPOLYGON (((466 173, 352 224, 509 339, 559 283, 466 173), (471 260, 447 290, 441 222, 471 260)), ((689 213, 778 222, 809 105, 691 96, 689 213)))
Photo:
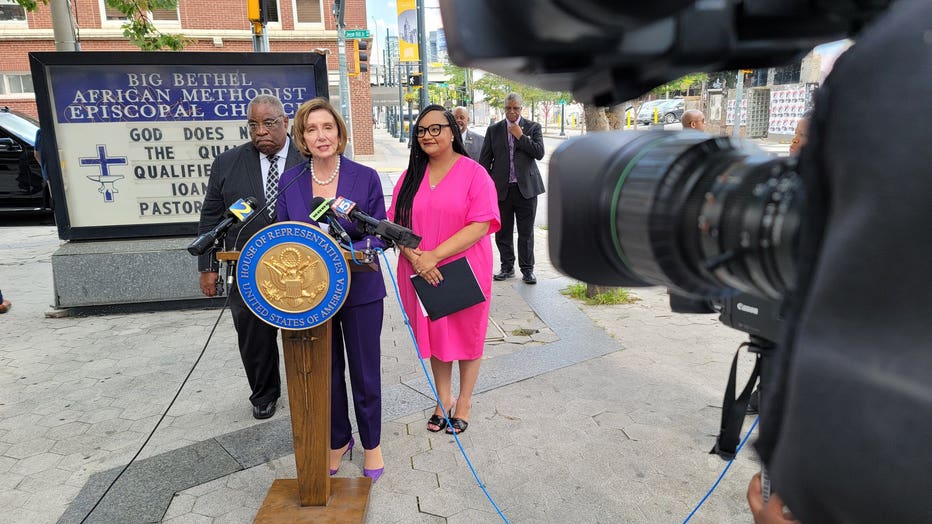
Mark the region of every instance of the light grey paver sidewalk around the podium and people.
MULTIPOLYGON (((384 130, 376 135, 379 154, 358 160, 390 190, 408 150, 384 130)), ((631 305, 580 305, 560 294, 570 280, 552 268, 546 241, 538 229, 537 286, 494 284, 479 392, 460 441, 511 522, 680 522, 725 465, 708 450, 745 337, 713 315, 670 313, 656 288, 635 290, 641 300, 631 305)), ((46 318, 57 245, 50 227, 0 227, 0 285, 16 303, 0 317, 0 523, 78 522, 107 472, 148 435, 220 313, 46 318)), ((386 473, 373 487, 368 522, 500 522, 453 438, 426 430, 433 401, 393 296, 384 325, 386 473)), ((147 505, 165 522, 251 522, 272 481, 295 469, 288 449, 270 444, 290 438, 287 398, 260 422, 248 395, 224 313, 139 459, 165 468, 148 467, 164 489, 197 457, 210 457, 213 469, 194 468, 203 478, 167 500, 131 499, 162 486, 127 483, 126 498, 108 497, 101 507, 109 509, 88 522, 140 521, 107 515, 147 505)), ((357 453, 339 475, 361 468, 357 453)), ((756 470, 742 452, 693 521, 748 521, 744 492, 756 470)))

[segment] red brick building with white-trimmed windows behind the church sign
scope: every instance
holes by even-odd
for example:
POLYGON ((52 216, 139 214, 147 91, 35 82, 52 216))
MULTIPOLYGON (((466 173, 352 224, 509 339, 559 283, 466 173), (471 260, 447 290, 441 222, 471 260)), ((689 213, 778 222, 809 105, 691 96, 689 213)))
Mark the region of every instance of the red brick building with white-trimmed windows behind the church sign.
MULTIPOLYGON (((123 36, 122 13, 104 0, 73 0, 72 18, 82 51, 138 51, 123 36)), ((310 52, 329 49, 330 98, 338 104, 339 67, 336 22, 330 0, 271 0, 266 32, 271 52, 310 52)), ((347 29, 366 27, 365 0, 345 0, 347 29)), ((253 39, 246 18, 246 0, 178 0, 178 8, 160 10, 150 17, 165 33, 181 33, 192 42, 186 51, 250 52, 253 39)), ((351 53, 351 46, 347 46, 351 53)), ((0 0, 0 106, 36 117, 35 95, 29 72, 30 51, 55 51, 51 9, 39 6, 26 13, 13 0, 0 0)), ((348 60, 352 62, 352 60, 348 60)), ((350 65, 352 69, 352 65, 350 65)), ((373 153, 372 101, 369 74, 350 77, 353 147, 358 155, 373 153)), ((339 107, 337 105, 337 107, 339 107)))

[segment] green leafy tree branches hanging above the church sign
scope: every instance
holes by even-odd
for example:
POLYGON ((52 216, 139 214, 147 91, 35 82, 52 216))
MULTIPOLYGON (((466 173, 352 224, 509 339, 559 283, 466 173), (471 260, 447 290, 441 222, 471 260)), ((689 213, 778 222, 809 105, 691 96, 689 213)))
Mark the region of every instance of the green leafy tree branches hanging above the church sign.
MULTIPOLYGON (((49 0, 16 0, 16 3, 29 12, 38 10, 39 2, 48 5, 49 0)), ((123 36, 143 51, 180 51, 191 42, 191 39, 181 34, 162 33, 149 19, 153 10, 177 9, 178 0, 105 0, 105 3, 107 7, 126 15, 126 22, 120 26, 123 36)))

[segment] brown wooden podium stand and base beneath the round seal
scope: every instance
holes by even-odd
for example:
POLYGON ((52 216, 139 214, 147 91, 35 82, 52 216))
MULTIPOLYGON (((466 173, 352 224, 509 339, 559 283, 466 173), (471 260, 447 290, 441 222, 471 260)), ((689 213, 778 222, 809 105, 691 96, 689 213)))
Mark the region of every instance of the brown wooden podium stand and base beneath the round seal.
MULTIPOLYGON (((235 263, 239 252, 217 253, 235 263)), ((356 265, 343 251, 351 272, 373 271, 356 265)), ((363 522, 372 479, 330 477, 330 336, 332 320, 310 329, 281 329, 285 379, 291 410, 297 479, 277 479, 256 515, 257 523, 363 522)))

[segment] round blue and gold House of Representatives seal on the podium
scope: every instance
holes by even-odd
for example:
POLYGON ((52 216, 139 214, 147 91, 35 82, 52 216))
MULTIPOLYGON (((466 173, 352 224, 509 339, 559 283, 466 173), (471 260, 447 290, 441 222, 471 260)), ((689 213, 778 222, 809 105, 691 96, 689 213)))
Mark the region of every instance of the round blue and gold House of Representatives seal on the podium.
POLYGON ((246 307, 280 329, 308 329, 330 319, 349 293, 349 267, 318 227, 279 222, 249 239, 236 264, 246 307))

